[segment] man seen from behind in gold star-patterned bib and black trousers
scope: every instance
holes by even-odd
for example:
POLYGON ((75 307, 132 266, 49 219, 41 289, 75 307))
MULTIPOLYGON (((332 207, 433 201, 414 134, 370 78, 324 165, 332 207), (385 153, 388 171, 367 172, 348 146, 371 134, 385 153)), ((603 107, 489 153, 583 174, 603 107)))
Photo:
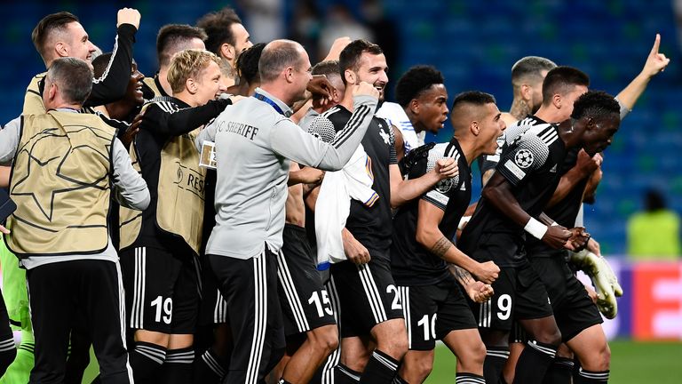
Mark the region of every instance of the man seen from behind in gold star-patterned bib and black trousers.
POLYGON ((77 113, 91 84, 85 61, 54 60, 45 76, 48 112, 22 116, 0 132, 0 163, 13 159, 10 193, 19 206, 6 242, 28 269, 36 336, 31 383, 64 380, 74 322, 89 324, 102 382, 132 382, 107 211, 112 187, 120 204, 138 210, 149 204, 149 192, 115 130, 99 116, 77 113))

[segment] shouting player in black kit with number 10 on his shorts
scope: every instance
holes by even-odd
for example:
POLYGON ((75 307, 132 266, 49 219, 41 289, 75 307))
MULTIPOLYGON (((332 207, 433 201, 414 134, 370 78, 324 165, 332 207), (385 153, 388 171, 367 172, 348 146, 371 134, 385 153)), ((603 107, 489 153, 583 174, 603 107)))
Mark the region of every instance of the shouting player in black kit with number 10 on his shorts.
MULTIPOLYGON (((445 88, 440 92, 447 100, 445 88)), ((422 109, 424 116, 436 116, 439 111, 438 105, 422 109)), ((456 382, 484 382, 486 347, 480 340, 472 311, 448 271, 448 263, 467 269, 486 283, 496 279, 499 268, 492 261, 472 260, 449 239, 454 238, 472 197, 471 164, 481 154, 495 153, 496 139, 505 125, 495 98, 483 92, 456 96, 452 125, 455 132, 452 140, 435 145, 415 159, 408 177, 431 171, 436 160, 445 157, 457 159, 459 174, 403 205, 393 219, 391 271, 399 285, 410 337, 399 374, 408 383, 424 382, 431 372, 435 340, 443 340, 457 356, 456 382)), ((483 287, 471 276, 466 276, 466 280, 464 283, 471 285, 466 288, 472 300, 482 302, 492 295, 489 285, 483 287)))

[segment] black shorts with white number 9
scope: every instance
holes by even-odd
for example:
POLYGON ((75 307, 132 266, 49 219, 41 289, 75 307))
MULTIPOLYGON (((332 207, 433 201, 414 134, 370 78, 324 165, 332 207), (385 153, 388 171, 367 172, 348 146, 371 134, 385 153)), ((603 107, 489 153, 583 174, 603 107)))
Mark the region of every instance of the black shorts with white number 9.
POLYGON ((552 315, 544 284, 530 264, 500 268, 500 276, 492 286, 495 294, 490 300, 472 303, 473 316, 479 328, 511 331, 513 320, 552 315))

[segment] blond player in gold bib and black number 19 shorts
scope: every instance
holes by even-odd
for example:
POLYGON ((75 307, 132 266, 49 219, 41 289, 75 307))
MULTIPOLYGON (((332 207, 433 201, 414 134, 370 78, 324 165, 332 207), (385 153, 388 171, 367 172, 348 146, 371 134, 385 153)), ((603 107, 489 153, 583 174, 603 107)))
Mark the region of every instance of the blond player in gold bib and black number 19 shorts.
POLYGON ((193 131, 218 116, 230 101, 213 100, 225 88, 219 83, 218 58, 211 52, 179 52, 168 80, 173 97, 143 108, 131 148, 152 203, 142 213, 121 212, 121 262, 129 325, 135 330, 131 351, 135 379, 144 382, 161 374, 163 382, 186 383, 194 362, 199 305, 195 261, 204 198, 204 170, 199 167, 193 131))

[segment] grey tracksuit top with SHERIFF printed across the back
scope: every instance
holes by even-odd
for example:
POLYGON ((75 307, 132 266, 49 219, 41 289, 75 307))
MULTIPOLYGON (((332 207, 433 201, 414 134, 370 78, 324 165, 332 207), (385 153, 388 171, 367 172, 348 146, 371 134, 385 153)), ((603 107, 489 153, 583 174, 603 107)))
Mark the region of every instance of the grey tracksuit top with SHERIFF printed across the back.
MULTIPOLYGON (((282 100, 258 88, 286 115, 282 100)), ((197 137, 215 141, 216 227, 206 253, 250 259, 267 245, 271 252, 282 248, 284 203, 287 199, 289 159, 322 170, 343 168, 365 135, 377 108, 377 99, 355 97, 354 112, 343 131, 325 143, 304 132, 273 105, 256 97, 227 106, 197 137)), ((334 132, 334 127, 329 127, 334 132)), ((333 133, 332 133, 333 134, 333 133)))

